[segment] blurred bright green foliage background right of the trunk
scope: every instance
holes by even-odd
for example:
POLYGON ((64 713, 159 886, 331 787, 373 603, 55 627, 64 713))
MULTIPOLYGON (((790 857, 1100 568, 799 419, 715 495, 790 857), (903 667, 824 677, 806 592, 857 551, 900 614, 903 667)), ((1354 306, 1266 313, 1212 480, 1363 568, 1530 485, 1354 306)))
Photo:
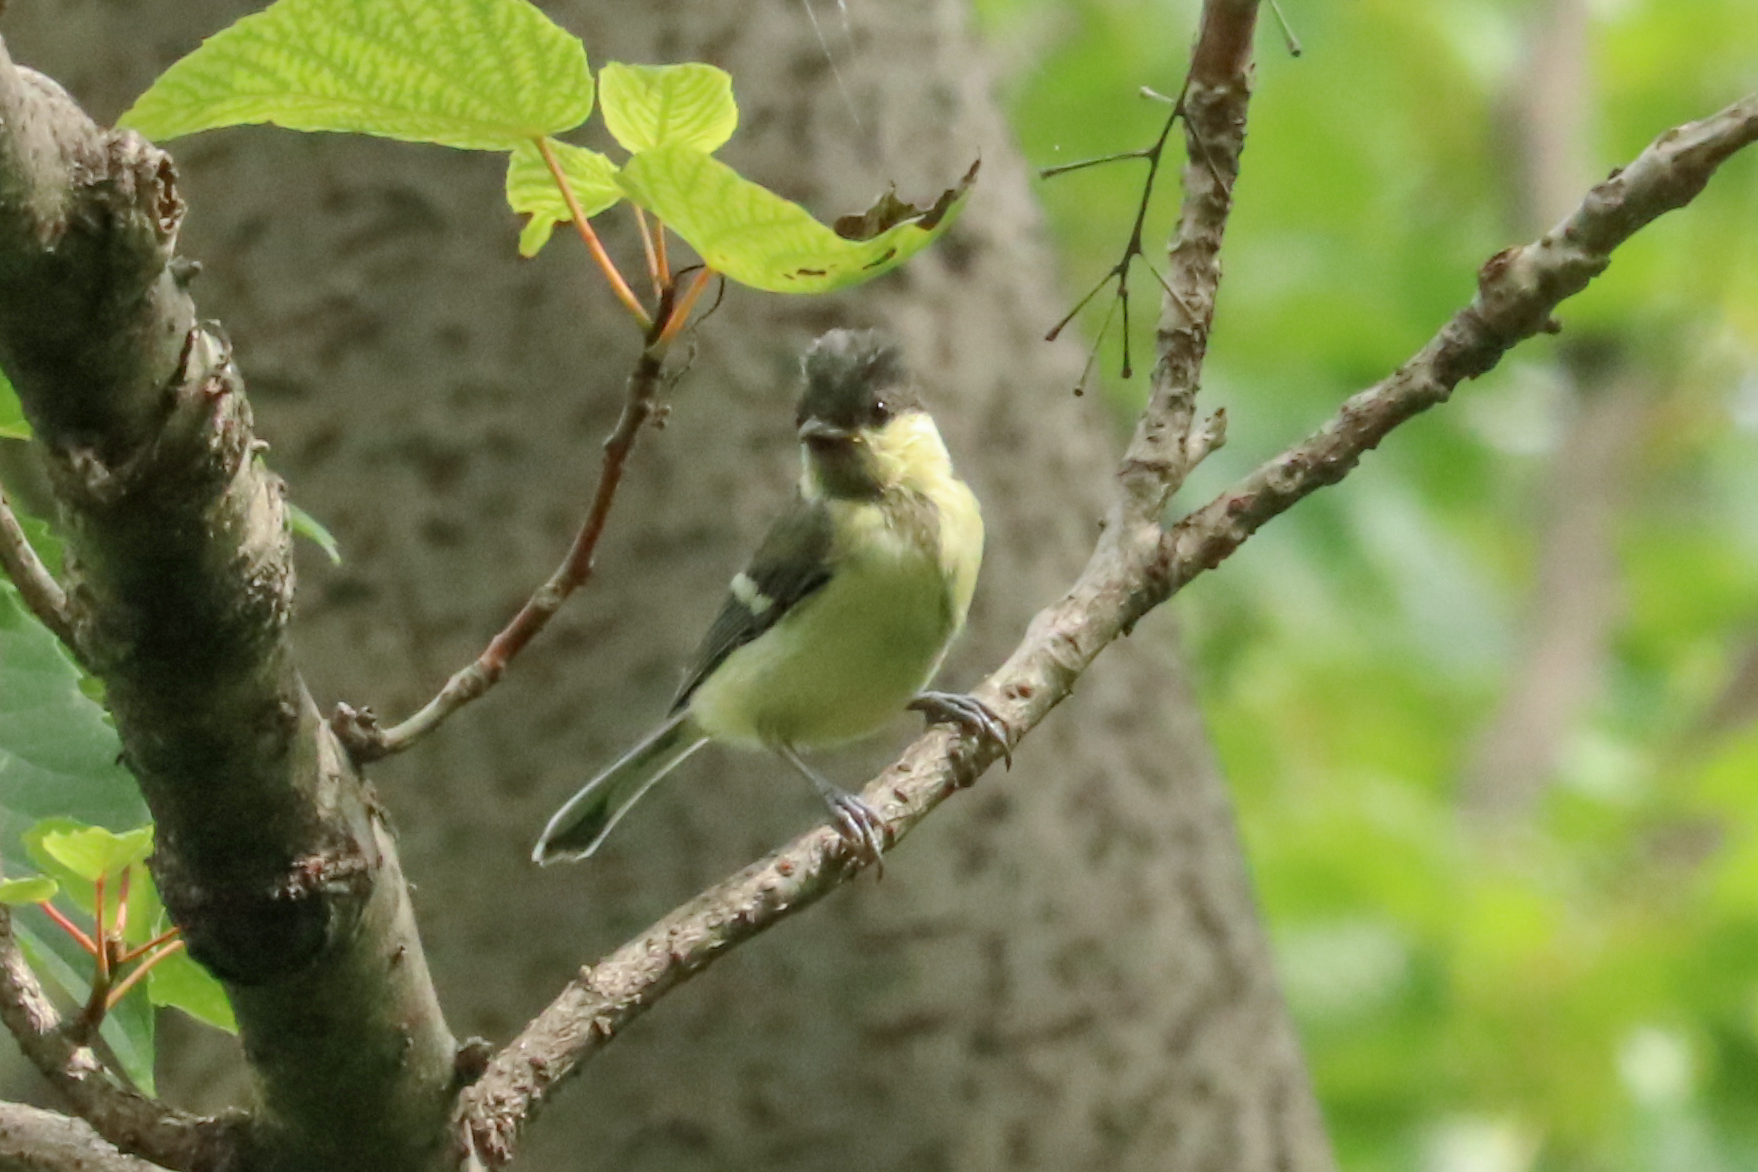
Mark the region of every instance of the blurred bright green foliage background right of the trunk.
MULTIPOLYGON (((1178 91, 1197 7, 979 0, 1030 160, 1151 142, 1166 107, 1137 88, 1178 91)), ((1266 12, 1204 388, 1231 441, 1185 504, 1391 373, 1531 235, 1515 97, 1554 4, 1283 7, 1306 53, 1266 12)), ((1751 0, 1587 7, 1582 190, 1758 90, 1751 0)), ((1041 186, 1071 302, 1116 262, 1141 172, 1041 186)), ((1561 318, 1176 603, 1350 1172, 1758 1167, 1758 682, 1737 685, 1746 655, 1758 676, 1758 153, 1561 318), (1614 619, 1536 803, 1486 829, 1464 778, 1542 638, 1545 492, 1595 392, 1570 378, 1582 337, 1644 388, 1602 478, 1614 619)), ((1115 373, 1115 327, 1104 355, 1115 373)))

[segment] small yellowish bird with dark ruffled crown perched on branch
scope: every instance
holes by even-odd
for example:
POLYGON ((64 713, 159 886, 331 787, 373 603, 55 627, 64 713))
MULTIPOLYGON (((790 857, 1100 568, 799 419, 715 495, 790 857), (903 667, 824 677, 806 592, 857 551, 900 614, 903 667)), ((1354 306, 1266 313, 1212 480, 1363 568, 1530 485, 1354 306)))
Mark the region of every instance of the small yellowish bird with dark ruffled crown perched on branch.
POLYGON ((875 332, 832 330, 802 365, 793 501, 733 576, 665 722, 556 812, 533 861, 592 854, 654 782, 712 740, 777 754, 851 849, 877 863, 879 814, 800 750, 918 708, 1007 752, 1006 727, 981 701, 923 691, 965 622, 983 515, 902 355, 875 332))

